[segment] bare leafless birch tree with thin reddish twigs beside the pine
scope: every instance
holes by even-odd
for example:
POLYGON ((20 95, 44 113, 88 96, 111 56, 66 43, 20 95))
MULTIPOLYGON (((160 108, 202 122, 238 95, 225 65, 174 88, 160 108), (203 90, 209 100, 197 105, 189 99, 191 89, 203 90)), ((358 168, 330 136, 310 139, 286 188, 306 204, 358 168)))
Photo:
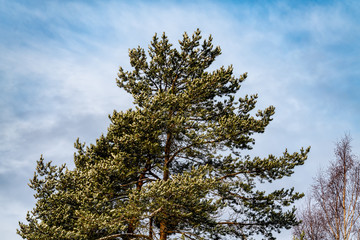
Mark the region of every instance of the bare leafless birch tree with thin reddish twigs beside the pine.
POLYGON ((360 163, 352 153, 351 137, 345 135, 337 142, 334 152, 335 161, 313 185, 313 203, 299 215, 302 223, 297 236, 303 231, 307 239, 358 239, 360 163))

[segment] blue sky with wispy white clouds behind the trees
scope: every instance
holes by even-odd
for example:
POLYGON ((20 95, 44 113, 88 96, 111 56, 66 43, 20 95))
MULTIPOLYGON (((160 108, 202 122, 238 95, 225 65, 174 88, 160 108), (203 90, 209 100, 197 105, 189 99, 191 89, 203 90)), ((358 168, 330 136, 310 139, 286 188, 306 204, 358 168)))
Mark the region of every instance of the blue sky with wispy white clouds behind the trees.
MULTIPOLYGON (((276 107, 251 155, 311 146, 295 174, 266 189, 308 192, 344 133, 360 147, 360 3, 354 1, 0 0, 0 232, 19 240, 34 207, 27 186, 43 154, 73 166, 73 143, 106 133, 113 109, 132 107, 116 86, 128 49, 155 32, 171 42, 196 28, 223 54, 212 69, 248 72, 239 96, 276 107)), ((283 232, 278 239, 290 239, 283 232)))

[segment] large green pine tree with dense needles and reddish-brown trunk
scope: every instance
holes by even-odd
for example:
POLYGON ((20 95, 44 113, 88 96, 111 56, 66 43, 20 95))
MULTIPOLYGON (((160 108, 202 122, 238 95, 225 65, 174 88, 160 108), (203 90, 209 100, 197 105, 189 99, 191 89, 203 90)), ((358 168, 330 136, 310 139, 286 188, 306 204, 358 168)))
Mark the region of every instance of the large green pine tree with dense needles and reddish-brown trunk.
POLYGON ((38 161, 37 203, 18 233, 27 239, 247 239, 297 224, 294 189, 256 190, 290 176, 309 149, 250 158, 274 107, 255 114, 257 95, 235 99, 247 74, 206 69, 221 54, 212 37, 186 33, 179 48, 155 35, 117 84, 134 108, 114 111, 105 136, 77 141, 75 169, 38 161), (148 60, 149 58, 149 60, 148 60), (285 209, 285 210, 284 210, 285 209))

